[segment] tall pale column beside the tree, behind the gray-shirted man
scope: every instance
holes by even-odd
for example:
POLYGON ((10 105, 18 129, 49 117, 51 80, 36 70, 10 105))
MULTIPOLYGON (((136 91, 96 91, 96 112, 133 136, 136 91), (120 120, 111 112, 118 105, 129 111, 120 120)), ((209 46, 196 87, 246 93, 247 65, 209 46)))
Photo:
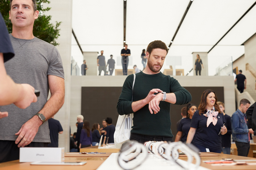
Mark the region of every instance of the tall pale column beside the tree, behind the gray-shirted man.
POLYGON ((43 4, 44 7, 49 6, 51 10, 45 12, 51 15, 51 22, 61 22, 60 36, 57 39, 56 46, 61 55, 61 60, 65 73, 65 103, 54 119, 60 121, 63 128, 63 134, 59 134, 59 147, 65 147, 65 152, 69 152, 70 142, 70 82, 71 82, 71 34, 72 34, 72 0, 54 0, 51 3, 43 4))

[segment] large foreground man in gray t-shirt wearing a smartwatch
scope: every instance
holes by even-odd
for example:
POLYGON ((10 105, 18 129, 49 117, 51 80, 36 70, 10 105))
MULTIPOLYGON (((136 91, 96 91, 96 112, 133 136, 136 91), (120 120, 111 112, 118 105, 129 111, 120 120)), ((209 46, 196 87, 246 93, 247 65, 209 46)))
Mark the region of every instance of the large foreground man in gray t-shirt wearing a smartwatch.
POLYGON ((50 143, 47 120, 64 103, 60 54, 55 46, 34 37, 33 25, 39 11, 33 1, 28 2, 24 5, 23 1, 11 1, 13 32, 9 37, 16 56, 5 63, 5 68, 15 83, 30 84, 40 91, 40 96, 26 109, 14 104, 0 107, 0 112, 10 113, 0 119, 0 163, 19 159, 19 147, 46 147, 50 143), (47 101, 49 90, 51 98, 47 101))

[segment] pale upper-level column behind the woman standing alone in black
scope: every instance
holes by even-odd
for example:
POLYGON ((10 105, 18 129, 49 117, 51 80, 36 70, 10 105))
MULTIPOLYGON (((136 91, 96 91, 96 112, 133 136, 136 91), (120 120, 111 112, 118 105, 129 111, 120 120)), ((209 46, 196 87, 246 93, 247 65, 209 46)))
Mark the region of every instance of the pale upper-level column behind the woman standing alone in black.
MULTIPOLYGON (((202 63, 204 65, 204 68, 202 67, 202 70, 201 70, 201 76, 208 76, 208 53, 207 52, 193 52, 193 73, 194 73, 194 76, 196 75, 195 74, 195 60, 196 60, 196 55, 198 54, 202 60, 202 63)), ((199 73, 198 73, 199 75, 199 73)))

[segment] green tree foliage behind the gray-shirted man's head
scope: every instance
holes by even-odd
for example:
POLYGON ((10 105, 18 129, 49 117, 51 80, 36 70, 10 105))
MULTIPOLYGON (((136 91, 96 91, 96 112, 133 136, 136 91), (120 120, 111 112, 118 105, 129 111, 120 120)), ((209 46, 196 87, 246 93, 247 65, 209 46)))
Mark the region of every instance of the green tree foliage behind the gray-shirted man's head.
MULTIPOLYGON (((51 8, 43 8, 43 3, 49 4, 48 0, 36 0, 37 10, 39 11, 39 16, 34 22, 33 34, 35 37, 51 43, 56 46, 59 45, 56 39, 60 36, 59 32, 61 22, 56 22, 56 25, 50 23, 51 15, 47 16, 44 14, 45 11, 49 11, 51 8)), ((0 0, 0 12, 3 15, 3 19, 6 23, 9 33, 12 33, 13 24, 9 19, 10 1, 0 0)))

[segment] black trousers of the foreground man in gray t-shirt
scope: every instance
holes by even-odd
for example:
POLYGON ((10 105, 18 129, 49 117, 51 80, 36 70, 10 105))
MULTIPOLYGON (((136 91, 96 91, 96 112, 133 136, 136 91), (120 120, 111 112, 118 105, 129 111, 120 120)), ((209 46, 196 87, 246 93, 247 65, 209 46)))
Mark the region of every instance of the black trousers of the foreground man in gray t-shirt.
MULTIPOLYGON (((31 142, 25 147, 47 147, 48 143, 31 142)), ((19 148, 15 141, 0 140, 0 163, 19 159, 19 148)))

